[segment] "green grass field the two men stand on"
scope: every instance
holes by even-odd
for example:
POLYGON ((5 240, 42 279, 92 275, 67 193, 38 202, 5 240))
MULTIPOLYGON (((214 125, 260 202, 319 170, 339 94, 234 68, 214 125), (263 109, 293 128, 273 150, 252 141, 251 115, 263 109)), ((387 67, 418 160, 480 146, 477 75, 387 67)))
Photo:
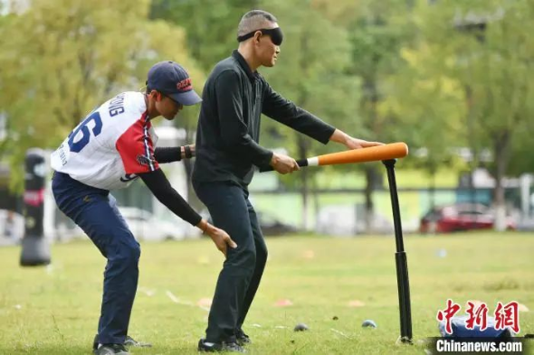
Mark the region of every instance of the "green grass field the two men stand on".
MULTIPOLYGON (((447 298, 462 313, 470 299, 487 303, 490 313, 498 301, 517 300, 531 310, 520 313, 521 334, 534 332, 532 234, 406 237, 414 346, 395 344, 393 238, 267 242, 267 270, 244 327, 253 339, 249 353, 421 354, 418 341, 438 335, 435 314, 447 298), (292 305, 275 305, 284 299, 292 305), (366 319, 377 329, 361 328, 366 319), (293 332, 298 322, 310 331, 293 332)), ((48 267, 23 269, 19 255, 19 248, 0 248, 0 353, 91 353, 105 259, 85 241, 53 246, 48 267)), ((130 335, 154 347, 134 354, 196 353, 207 316, 197 302, 211 298, 222 260, 208 240, 142 245, 130 335)))

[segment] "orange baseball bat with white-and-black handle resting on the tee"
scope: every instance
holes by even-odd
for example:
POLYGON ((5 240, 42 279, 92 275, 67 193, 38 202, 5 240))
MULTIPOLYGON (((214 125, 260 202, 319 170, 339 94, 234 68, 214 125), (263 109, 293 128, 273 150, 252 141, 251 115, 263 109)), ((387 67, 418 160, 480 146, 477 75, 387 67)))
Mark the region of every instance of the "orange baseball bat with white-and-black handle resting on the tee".
MULTIPOLYGON (((348 150, 345 152, 323 154, 297 161, 299 166, 334 165, 339 163, 366 163, 404 158, 408 154, 408 145, 404 142, 377 145, 369 148, 348 150)), ((262 169, 262 172, 272 171, 272 166, 262 169)))

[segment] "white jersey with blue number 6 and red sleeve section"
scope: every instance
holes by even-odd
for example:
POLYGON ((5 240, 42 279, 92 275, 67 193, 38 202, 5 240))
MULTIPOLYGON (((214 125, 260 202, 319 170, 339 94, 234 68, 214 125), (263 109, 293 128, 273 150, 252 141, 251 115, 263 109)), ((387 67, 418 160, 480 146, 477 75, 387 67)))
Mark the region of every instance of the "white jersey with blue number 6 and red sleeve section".
POLYGON ((52 169, 103 190, 125 188, 157 170, 157 135, 140 92, 123 92, 95 109, 52 153, 52 169))

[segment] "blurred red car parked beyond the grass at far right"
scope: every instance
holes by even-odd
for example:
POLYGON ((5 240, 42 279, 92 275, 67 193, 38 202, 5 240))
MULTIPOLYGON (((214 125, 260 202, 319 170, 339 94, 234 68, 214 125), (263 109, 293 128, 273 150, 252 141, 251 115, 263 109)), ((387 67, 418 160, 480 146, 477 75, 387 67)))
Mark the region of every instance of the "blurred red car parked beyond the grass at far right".
MULTIPOLYGON (((492 229, 495 211, 480 203, 455 203, 435 207, 421 219, 421 233, 449 233, 471 229, 492 229)), ((516 222, 506 218, 506 229, 516 229, 516 222)))

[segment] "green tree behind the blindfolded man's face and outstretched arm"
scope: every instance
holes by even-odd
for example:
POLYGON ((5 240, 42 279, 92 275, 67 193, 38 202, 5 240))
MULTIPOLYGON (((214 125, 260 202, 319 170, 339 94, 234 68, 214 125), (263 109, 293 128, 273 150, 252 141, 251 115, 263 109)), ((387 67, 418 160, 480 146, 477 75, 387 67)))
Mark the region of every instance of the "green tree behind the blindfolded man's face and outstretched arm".
MULTIPOLYGON (((284 33, 281 55, 275 68, 262 69, 272 88, 296 105, 321 117, 349 134, 358 132, 358 78, 348 75, 350 43, 345 30, 335 26, 310 1, 264 2, 262 8, 274 14, 284 33), (299 11, 295 11, 298 9, 299 11)), ((325 153, 326 149, 309 137, 264 119, 263 144, 283 146, 297 158, 325 153)), ((339 145, 330 145, 339 151, 339 145)), ((302 227, 310 229, 310 188, 315 184, 314 169, 282 178, 300 189, 302 227)), ((317 201, 315 202, 317 209, 317 201)))

